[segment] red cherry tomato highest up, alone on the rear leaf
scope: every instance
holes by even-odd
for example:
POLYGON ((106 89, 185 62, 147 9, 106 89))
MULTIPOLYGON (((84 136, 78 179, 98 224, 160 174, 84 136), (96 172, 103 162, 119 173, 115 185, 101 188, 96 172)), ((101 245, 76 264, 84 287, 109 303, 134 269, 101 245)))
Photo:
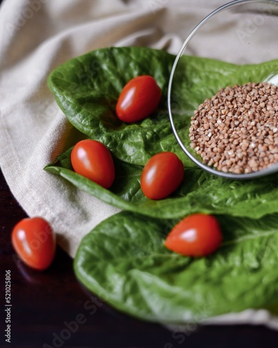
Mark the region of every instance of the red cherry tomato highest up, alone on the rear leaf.
POLYGON ((154 77, 134 77, 124 86, 117 101, 117 117, 124 122, 142 120, 156 110, 160 100, 161 88, 154 77))

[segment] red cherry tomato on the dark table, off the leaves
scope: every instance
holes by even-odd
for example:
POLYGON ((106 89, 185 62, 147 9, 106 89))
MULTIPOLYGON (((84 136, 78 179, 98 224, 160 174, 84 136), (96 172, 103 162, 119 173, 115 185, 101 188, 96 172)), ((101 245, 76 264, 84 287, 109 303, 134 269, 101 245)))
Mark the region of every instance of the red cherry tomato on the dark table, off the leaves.
POLYGON ((26 218, 13 228, 12 244, 19 258, 40 271, 54 260, 56 238, 49 223, 41 217, 26 218))

